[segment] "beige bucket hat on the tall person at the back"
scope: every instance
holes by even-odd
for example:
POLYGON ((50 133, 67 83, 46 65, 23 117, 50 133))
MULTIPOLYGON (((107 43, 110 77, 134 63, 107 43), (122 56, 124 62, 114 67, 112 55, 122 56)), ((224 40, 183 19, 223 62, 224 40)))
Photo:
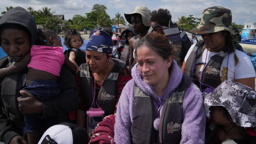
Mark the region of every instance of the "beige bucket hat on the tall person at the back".
POLYGON ((151 11, 146 8, 146 7, 142 7, 142 6, 138 6, 135 8, 135 10, 132 13, 124 13, 124 17, 127 20, 127 22, 129 24, 131 24, 131 19, 132 19, 132 14, 135 13, 139 13, 142 16, 142 23, 145 26, 150 26, 150 15, 151 15, 151 11))

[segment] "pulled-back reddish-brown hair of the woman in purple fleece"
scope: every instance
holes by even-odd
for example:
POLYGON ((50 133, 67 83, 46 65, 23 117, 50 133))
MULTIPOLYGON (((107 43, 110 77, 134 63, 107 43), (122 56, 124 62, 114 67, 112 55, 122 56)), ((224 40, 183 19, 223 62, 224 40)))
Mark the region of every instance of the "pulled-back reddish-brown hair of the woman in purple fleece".
MULTIPOLYGON (((155 51, 163 60, 167 60, 169 56, 172 56, 174 60, 177 60, 173 54, 175 49, 173 48, 171 42, 168 38, 163 35, 149 34, 143 37, 138 46, 135 48, 135 57, 137 58, 137 51, 141 46, 146 46, 149 49, 155 51)), ((171 67, 169 68, 169 72, 171 67)))

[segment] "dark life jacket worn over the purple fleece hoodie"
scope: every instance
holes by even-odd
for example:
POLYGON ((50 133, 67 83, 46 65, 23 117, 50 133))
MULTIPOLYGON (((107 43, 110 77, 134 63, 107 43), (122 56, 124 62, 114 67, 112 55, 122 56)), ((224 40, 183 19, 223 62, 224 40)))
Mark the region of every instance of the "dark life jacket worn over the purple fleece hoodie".
MULTIPOLYGON (((179 86, 166 99, 159 124, 160 143, 180 143, 183 123, 183 95, 192 81, 191 77, 183 74, 179 86)), ((155 143, 154 120, 156 115, 154 103, 152 98, 143 92, 136 83, 134 85, 134 103, 131 127, 132 143, 155 143)))

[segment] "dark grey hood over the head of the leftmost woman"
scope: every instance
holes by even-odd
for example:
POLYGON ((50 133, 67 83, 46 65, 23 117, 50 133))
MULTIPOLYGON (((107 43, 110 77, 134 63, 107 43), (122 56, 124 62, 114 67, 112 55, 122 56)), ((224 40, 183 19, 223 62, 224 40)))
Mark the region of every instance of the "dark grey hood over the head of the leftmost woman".
MULTIPOLYGON (((22 7, 14 7, 8 10, 0 19, 0 30, 14 28, 27 30, 31 34, 31 43, 32 45, 36 43, 37 39, 37 26, 33 16, 22 7)), ((0 40, 1 46, 1 40, 0 40)))

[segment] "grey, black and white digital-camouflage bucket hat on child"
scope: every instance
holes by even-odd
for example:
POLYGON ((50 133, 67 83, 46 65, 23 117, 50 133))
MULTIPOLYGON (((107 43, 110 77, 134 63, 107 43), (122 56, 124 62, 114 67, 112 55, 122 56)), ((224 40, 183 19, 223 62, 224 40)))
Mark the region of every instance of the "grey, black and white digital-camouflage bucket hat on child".
POLYGON ((222 82, 212 93, 204 96, 207 106, 223 106, 236 125, 256 127, 256 91, 238 82, 222 82))

